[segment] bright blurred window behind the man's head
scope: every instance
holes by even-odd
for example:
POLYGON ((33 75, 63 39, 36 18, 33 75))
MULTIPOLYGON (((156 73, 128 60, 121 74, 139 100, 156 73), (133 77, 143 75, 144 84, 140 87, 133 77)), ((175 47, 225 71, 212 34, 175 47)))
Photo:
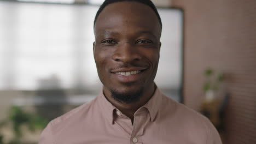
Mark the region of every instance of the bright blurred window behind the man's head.
MULTIPOLYGON (((55 83, 97 94, 101 82, 92 54, 97 9, 95 5, 0 2, 0 89, 53 88, 55 83)), ((159 13, 163 31, 155 81, 179 100, 183 13, 178 9, 159 9, 159 13)))

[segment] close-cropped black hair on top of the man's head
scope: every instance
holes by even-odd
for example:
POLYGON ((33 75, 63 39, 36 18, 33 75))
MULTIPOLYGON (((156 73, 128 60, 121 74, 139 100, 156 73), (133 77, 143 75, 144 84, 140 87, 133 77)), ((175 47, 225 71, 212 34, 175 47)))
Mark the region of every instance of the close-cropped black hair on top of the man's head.
POLYGON ((101 11, 108 5, 108 4, 112 4, 112 3, 116 3, 116 2, 124 2, 124 1, 127 1, 127 2, 139 2, 139 3, 143 3, 143 4, 146 4, 148 5, 150 8, 152 8, 156 14, 156 16, 158 17, 158 21, 160 23, 160 26, 162 28, 162 21, 161 21, 161 17, 158 13, 158 10, 156 9, 154 3, 150 0, 105 0, 102 4, 101 4, 101 7, 98 9, 97 13, 96 13, 96 16, 95 16, 95 19, 94 19, 94 26, 95 26, 95 23, 96 23, 96 20, 98 18, 98 15, 100 15, 101 11))

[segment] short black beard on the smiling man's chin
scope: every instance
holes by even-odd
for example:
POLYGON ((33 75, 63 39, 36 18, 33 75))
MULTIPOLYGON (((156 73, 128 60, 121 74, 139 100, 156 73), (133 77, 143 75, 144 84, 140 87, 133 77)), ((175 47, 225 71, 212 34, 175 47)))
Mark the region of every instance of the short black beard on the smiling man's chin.
POLYGON ((138 101, 143 94, 143 88, 138 89, 135 92, 118 92, 116 89, 110 89, 112 98, 120 103, 130 104, 138 101))

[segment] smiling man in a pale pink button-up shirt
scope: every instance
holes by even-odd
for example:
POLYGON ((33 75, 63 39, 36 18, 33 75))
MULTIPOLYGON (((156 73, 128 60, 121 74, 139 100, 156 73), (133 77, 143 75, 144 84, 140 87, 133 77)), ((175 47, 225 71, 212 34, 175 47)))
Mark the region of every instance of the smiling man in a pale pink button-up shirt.
POLYGON ((102 92, 51 121, 39 143, 222 143, 207 118, 155 85, 161 28, 149 0, 105 1, 94 25, 102 92))

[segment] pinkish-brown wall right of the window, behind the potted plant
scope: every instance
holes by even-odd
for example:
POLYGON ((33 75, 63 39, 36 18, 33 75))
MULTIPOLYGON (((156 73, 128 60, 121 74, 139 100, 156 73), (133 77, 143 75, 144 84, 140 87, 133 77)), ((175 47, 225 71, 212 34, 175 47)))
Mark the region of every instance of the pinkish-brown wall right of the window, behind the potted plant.
POLYGON ((184 9, 184 103, 199 110, 203 70, 223 70, 226 143, 256 143, 256 1, 175 0, 184 9))

